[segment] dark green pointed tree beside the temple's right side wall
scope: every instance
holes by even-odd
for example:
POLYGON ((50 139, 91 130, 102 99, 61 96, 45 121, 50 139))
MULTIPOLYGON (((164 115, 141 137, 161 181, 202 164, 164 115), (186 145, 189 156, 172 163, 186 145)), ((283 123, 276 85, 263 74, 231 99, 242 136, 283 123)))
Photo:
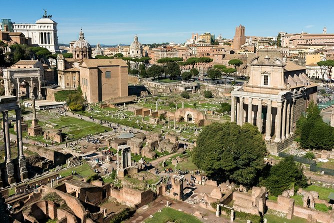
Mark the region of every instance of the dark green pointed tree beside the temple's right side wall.
POLYGON ((296 134, 300 137, 300 145, 309 149, 331 150, 334 147, 334 128, 323 122, 320 109, 311 101, 306 116, 297 121, 296 134))

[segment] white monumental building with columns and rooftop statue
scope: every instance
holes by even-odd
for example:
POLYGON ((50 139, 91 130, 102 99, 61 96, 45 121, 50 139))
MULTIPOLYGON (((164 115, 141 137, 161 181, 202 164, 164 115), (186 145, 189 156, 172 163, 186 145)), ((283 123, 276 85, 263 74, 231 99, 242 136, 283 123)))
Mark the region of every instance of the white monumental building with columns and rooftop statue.
MULTIPOLYGON (((0 23, 0 30, 2 25, 0 23)), ((14 23, 14 32, 22 32, 25 37, 31 38, 31 44, 47 48, 50 52, 58 50, 57 23, 51 19, 51 15, 46 14, 36 23, 14 23)))

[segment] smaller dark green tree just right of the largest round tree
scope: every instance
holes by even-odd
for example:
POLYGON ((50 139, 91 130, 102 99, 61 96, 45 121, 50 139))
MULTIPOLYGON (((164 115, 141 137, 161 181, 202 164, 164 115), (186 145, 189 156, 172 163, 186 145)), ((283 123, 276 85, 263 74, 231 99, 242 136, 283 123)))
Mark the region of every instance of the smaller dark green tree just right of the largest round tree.
POLYGON ((288 156, 271 166, 268 176, 262 179, 260 184, 265 186, 271 195, 277 196, 292 186, 295 190, 306 187, 307 178, 302 172, 301 163, 297 164, 292 156, 288 156))

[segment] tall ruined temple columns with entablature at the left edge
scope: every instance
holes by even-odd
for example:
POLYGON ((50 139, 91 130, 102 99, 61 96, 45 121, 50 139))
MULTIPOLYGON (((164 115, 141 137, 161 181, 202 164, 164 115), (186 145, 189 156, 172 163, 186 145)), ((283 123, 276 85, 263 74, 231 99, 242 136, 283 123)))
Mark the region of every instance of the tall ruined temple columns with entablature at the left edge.
POLYGON ((15 96, 0 96, 0 111, 3 120, 3 139, 5 147, 5 175, 1 176, 0 171, 0 187, 3 184, 12 184, 16 182, 16 178, 24 180, 28 177, 26 170, 25 157, 22 146, 22 129, 21 129, 21 108, 17 103, 15 96), (14 173, 14 163, 10 152, 10 136, 9 136, 9 118, 8 111, 15 110, 16 116, 16 139, 17 139, 17 153, 18 153, 18 173, 14 173))

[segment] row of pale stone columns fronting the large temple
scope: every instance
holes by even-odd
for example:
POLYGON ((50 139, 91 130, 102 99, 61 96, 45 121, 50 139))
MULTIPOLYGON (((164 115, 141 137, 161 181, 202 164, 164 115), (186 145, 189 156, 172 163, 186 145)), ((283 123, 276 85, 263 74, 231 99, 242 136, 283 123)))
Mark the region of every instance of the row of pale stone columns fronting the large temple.
MULTIPOLYGON (((262 99, 257 99, 257 113, 255 117, 252 116, 253 98, 248 98, 247 122, 252 123, 256 119, 256 126, 262 132, 262 99)), ((265 122, 265 140, 271 139, 271 124, 272 124, 272 100, 265 100, 267 104, 266 122, 265 122)), ((239 102, 235 101, 235 97, 231 98, 231 121, 236 121, 237 124, 242 125, 245 122, 245 110, 243 109, 244 98, 239 97, 239 102), (235 109, 236 103, 236 109, 235 109), (236 117, 236 119, 235 119, 236 117)), ((277 114, 275 116, 275 140, 279 142, 289 137, 292 131, 294 105, 292 99, 284 101, 277 101, 277 114)))

